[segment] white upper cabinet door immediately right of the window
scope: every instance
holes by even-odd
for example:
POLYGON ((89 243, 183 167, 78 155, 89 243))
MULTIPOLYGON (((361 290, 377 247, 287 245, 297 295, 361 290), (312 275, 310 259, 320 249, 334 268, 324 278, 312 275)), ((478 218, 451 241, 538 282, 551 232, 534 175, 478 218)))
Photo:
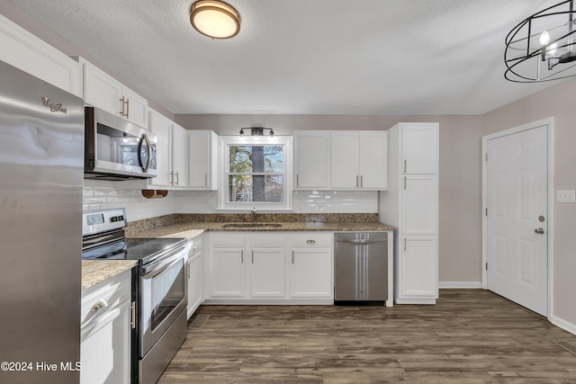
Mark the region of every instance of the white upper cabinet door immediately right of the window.
POLYGON ((329 188, 329 132, 294 133, 294 188, 329 188))

